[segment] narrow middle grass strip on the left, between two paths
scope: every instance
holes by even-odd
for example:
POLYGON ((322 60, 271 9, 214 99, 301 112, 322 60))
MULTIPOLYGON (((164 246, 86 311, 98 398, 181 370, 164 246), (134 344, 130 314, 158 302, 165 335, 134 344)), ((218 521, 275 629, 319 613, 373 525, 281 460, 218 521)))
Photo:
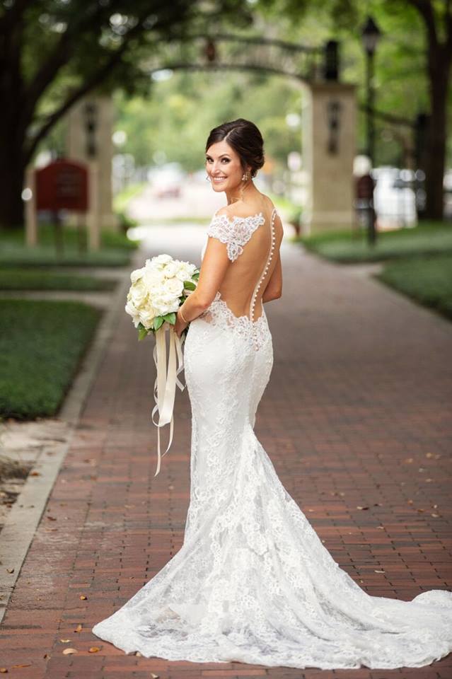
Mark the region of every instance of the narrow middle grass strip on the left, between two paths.
POLYGON ((40 268, 0 267, 0 290, 113 290, 116 281, 40 268))

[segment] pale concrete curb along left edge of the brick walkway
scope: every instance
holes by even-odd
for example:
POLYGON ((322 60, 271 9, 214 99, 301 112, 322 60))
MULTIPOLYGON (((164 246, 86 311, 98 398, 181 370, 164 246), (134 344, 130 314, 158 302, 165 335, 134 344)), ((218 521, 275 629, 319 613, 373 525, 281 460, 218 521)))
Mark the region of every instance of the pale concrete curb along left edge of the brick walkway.
MULTIPOLYGON (((129 272, 139 266, 137 262, 141 258, 141 248, 138 248, 132 255, 129 269, 124 267, 120 272, 120 282, 116 290, 112 292, 110 305, 100 320, 91 347, 88 349, 71 389, 59 410, 57 419, 61 419, 67 425, 66 439, 59 446, 55 446, 54 443, 52 446, 42 446, 42 451, 33 467, 33 470, 39 472, 39 475, 28 475, 22 492, 16 503, 13 504, 1 530, 0 623, 6 613, 6 606, 33 541, 35 530, 45 510, 47 499, 66 453, 71 446, 76 424, 79 422, 83 406, 102 360, 105 345, 112 336, 117 318, 124 310, 124 300, 130 285, 129 272)), ((83 299, 83 301, 89 303, 87 299, 83 299)))

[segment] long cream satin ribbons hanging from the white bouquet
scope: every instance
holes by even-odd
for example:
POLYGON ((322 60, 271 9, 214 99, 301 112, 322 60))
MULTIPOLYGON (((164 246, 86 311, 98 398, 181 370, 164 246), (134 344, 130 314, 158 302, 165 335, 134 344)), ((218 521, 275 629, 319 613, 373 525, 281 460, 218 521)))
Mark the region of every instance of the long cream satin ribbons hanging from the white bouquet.
POLYGON ((174 331, 173 325, 170 323, 163 323, 161 327, 156 331, 156 345, 153 348, 153 361, 156 364, 157 376, 156 381, 153 385, 153 397, 156 405, 153 407, 152 411, 152 422, 157 427, 157 470, 154 477, 158 475, 161 467, 161 458, 166 455, 170 449, 170 445, 173 441, 173 429, 174 429, 174 418, 173 418, 173 407, 175 399, 175 388, 176 385, 181 391, 185 389, 185 384, 182 384, 178 378, 178 374, 184 367, 183 356, 182 356, 182 344, 184 343, 185 337, 182 340, 174 331), (166 366, 166 331, 168 330, 170 335, 169 344, 169 354, 168 354, 168 368, 166 366), (176 356, 178 359, 178 366, 176 366, 176 356), (153 419, 154 414, 158 411, 158 422, 153 419), (170 425, 170 440, 166 451, 161 454, 160 451, 160 428, 165 426, 165 424, 170 425))

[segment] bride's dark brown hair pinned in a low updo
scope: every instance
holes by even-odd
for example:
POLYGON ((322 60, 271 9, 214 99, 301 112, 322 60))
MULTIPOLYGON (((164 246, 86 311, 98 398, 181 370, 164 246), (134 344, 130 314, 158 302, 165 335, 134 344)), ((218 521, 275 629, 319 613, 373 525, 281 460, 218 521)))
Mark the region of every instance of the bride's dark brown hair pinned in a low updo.
POLYGON ((260 170, 265 162, 265 156, 264 140, 254 122, 237 118, 237 120, 224 122, 218 127, 214 127, 207 139, 206 151, 209 146, 218 141, 227 141, 229 146, 238 153, 243 170, 246 170, 249 165, 251 176, 256 176, 257 170, 260 170))

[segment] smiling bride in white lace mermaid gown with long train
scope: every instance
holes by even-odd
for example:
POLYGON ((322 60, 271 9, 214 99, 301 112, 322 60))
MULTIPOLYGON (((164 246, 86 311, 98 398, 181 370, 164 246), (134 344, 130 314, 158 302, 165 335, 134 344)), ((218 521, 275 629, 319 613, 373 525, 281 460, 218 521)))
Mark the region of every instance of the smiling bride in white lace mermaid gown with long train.
MULTIPOLYGON (((332 559, 255 436, 273 364, 264 303, 282 294, 282 222, 253 184, 262 136, 211 130, 207 177, 227 205, 207 228, 197 289, 178 312, 192 406, 184 542, 93 627, 129 653, 295 668, 421 667, 452 650, 452 593, 370 596, 332 559)), ((302 433, 301 433, 302 435, 302 433)))

